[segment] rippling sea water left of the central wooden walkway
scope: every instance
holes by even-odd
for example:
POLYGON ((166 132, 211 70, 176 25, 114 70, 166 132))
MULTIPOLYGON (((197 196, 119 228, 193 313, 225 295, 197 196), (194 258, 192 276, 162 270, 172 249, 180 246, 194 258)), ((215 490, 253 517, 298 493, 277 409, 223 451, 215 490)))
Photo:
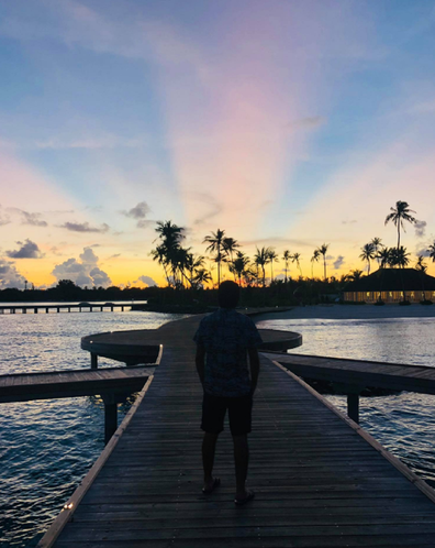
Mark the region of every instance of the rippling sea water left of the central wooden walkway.
MULTIPOLYGON (((89 369, 87 335, 155 329, 180 315, 0 315, 0 374, 89 369)), ((99 366, 119 362, 99 359, 99 366)), ((120 406, 119 423, 134 396, 120 406)), ((0 404, 0 546, 33 547, 104 448, 100 397, 0 404)))

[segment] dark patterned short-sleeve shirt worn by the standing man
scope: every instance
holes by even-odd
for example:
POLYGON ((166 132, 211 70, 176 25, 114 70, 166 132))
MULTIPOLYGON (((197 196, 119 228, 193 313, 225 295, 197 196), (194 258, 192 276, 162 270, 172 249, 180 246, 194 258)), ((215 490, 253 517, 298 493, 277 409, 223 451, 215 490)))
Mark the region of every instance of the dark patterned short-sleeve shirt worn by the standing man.
POLYGON ((260 344, 254 321, 234 309, 219 308, 202 318, 193 340, 205 349, 204 391, 220 397, 250 392, 247 349, 260 344))

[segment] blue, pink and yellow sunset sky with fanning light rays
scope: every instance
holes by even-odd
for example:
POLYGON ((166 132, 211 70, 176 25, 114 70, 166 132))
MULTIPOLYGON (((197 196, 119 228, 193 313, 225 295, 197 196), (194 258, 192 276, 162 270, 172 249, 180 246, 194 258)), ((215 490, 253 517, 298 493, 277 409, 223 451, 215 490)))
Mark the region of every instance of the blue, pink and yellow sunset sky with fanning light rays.
POLYGON ((0 288, 161 284, 169 219, 198 253, 221 228, 304 275, 330 243, 339 276, 395 244, 398 200, 413 265, 435 240, 434 58, 428 0, 0 0, 0 288))

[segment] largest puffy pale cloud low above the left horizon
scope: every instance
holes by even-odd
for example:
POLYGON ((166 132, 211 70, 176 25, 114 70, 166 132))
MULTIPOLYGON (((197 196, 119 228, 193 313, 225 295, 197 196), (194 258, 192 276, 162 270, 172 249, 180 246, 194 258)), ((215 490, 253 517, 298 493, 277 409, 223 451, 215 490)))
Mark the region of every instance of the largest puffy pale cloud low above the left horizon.
POLYGON ((98 266, 98 256, 91 248, 83 248, 77 259, 68 259, 57 264, 52 274, 59 280, 71 280, 79 286, 109 287, 112 284, 109 275, 98 266))

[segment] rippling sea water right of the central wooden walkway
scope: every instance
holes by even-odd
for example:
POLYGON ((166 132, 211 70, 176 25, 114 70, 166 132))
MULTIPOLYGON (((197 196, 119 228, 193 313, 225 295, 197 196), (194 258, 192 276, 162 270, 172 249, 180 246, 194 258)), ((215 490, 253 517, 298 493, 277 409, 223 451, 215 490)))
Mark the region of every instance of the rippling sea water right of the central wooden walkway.
MULTIPOLYGON (((435 368, 435 318, 288 318, 257 326, 302 333, 303 346, 293 353, 435 368)), ((347 413, 346 396, 327 398, 347 413)), ((362 428, 435 486, 435 396, 402 392, 360 397, 359 418, 362 428)))

